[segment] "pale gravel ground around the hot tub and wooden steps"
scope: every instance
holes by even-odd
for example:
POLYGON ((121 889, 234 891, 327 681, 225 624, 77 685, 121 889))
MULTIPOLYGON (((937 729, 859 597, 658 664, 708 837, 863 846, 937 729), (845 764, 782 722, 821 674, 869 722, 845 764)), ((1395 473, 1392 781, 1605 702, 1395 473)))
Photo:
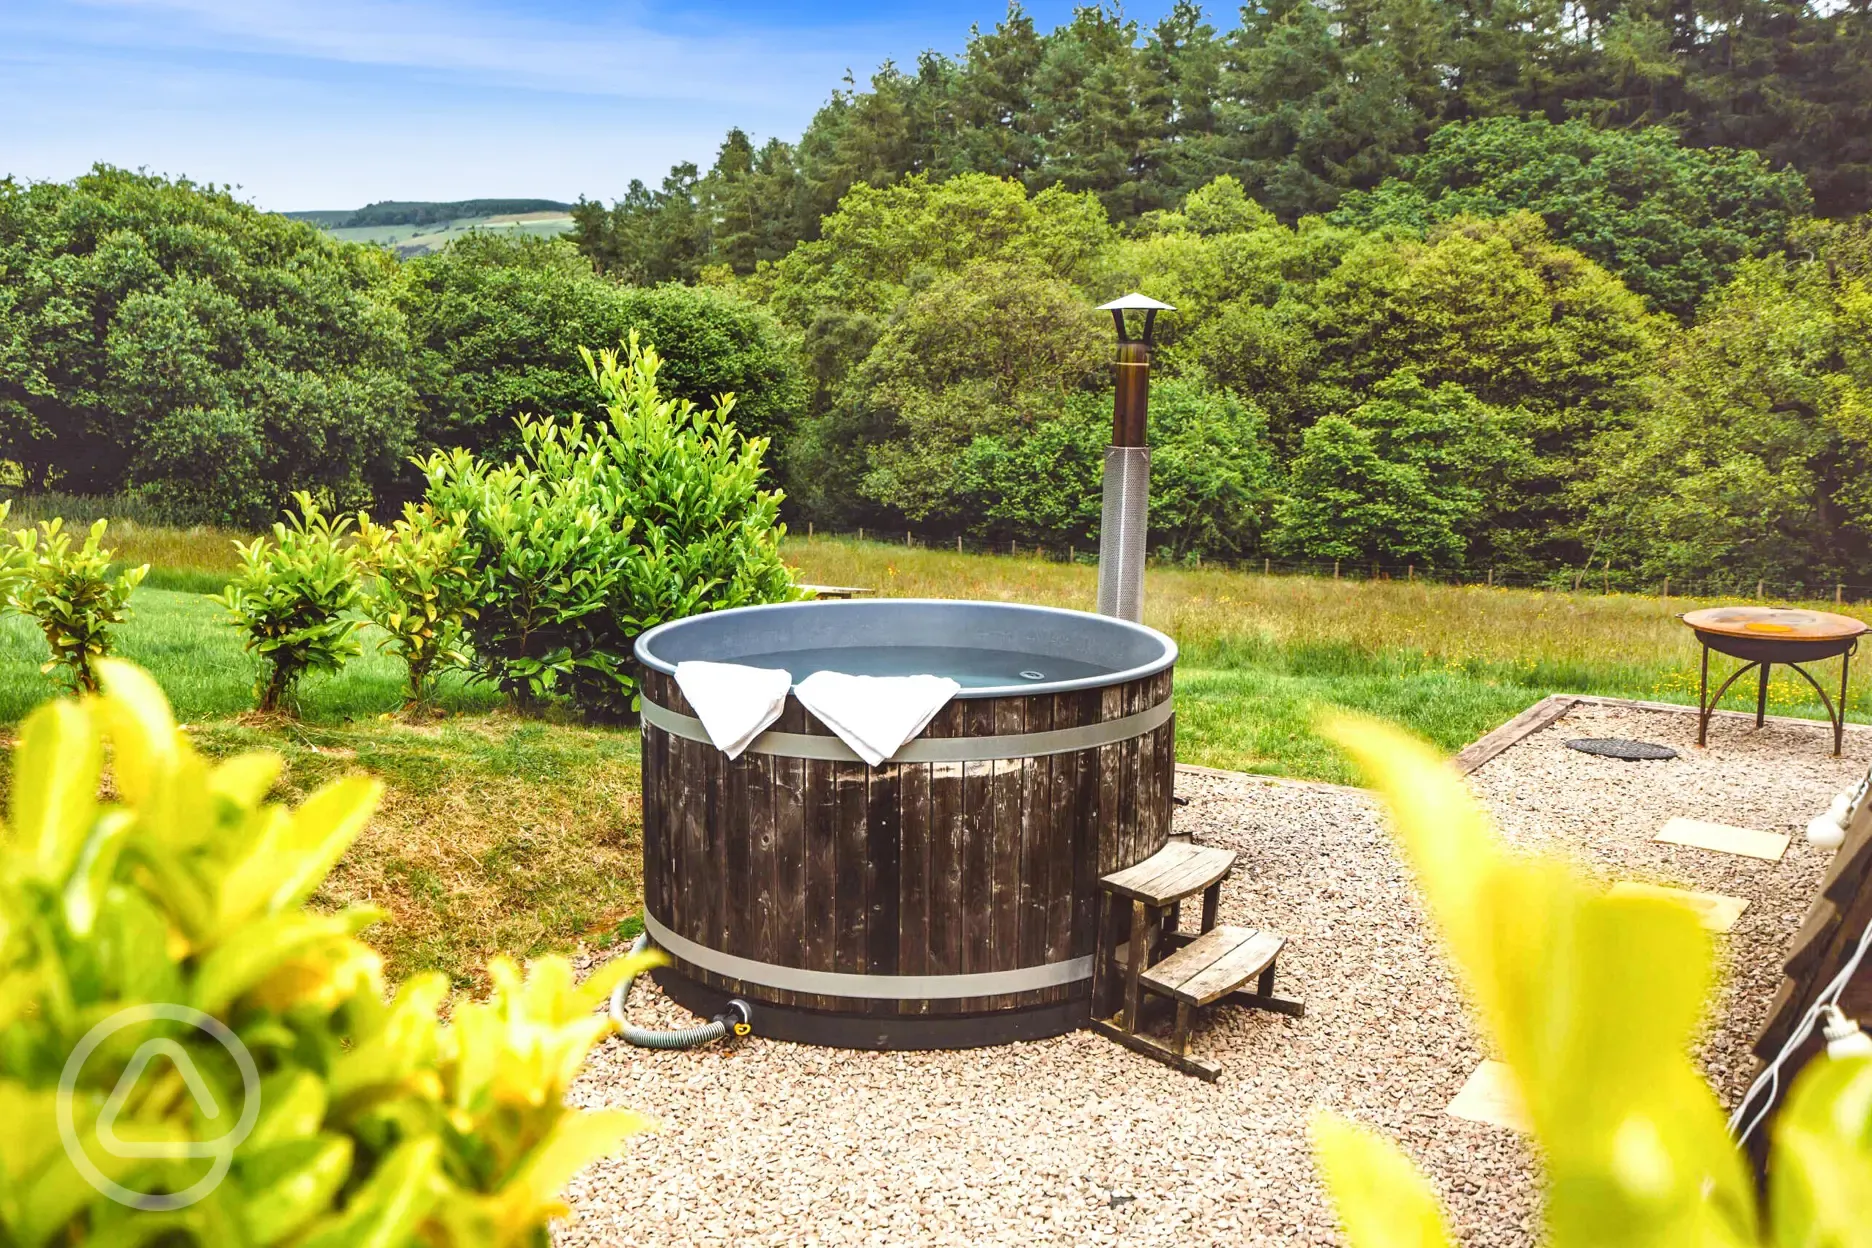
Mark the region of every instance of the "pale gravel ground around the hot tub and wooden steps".
MULTIPOLYGON (((1726 1100, 1823 870, 1801 831, 1863 775, 1872 733, 1582 705, 1475 773, 1520 844, 1567 848, 1604 879, 1750 900, 1724 937, 1730 984, 1705 1061, 1726 1100), (1595 760, 1571 737, 1675 745, 1660 763, 1595 760), (1651 842, 1674 814, 1795 836, 1782 863, 1651 842)), ((569 1190, 575 1244, 1305 1244, 1337 1242, 1305 1123, 1333 1108, 1423 1164, 1466 1244, 1529 1244, 1535 1183, 1513 1132, 1443 1108, 1483 1050, 1363 793, 1179 775, 1177 833, 1243 851, 1222 919, 1288 934, 1290 1020, 1215 1010, 1202 1083, 1091 1033, 945 1053, 771 1040, 689 1053, 601 1048, 575 1087, 661 1126, 569 1190)), ((689 1016, 644 982, 633 1018, 689 1016)))

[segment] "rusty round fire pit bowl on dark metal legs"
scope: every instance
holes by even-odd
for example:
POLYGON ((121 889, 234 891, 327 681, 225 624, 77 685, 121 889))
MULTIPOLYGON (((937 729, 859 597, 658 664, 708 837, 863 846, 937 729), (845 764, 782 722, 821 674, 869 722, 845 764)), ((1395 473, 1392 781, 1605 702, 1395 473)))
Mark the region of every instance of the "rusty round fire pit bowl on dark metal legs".
POLYGON ((1801 679, 1820 694, 1820 704, 1827 707, 1827 718, 1833 722, 1833 756, 1840 756, 1840 747, 1846 739, 1846 677, 1853 651, 1859 649, 1859 634, 1866 631, 1865 621, 1851 616, 1835 616, 1833 612, 1808 612, 1788 606, 1709 606, 1700 612, 1685 612, 1679 619, 1696 632, 1696 640, 1704 646, 1702 677, 1696 689, 1698 745, 1707 745, 1709 717, 1717 709, 1717 704, 1722 702, 1722 694, 1750 668, 1758 674, 1756 728, 1765 722, 1767 675, 1778 662, 1799 672, 1801 679), (1735 668, 1717 687, 1713 698, 1709 696, 1709 651, 1743 660, 1743 666, 1735 668), (1820 662, 1835 657, 1840 660, 1838 705, 1820 687, 1820 681, 1801 666, 1803 662, 1820 662))

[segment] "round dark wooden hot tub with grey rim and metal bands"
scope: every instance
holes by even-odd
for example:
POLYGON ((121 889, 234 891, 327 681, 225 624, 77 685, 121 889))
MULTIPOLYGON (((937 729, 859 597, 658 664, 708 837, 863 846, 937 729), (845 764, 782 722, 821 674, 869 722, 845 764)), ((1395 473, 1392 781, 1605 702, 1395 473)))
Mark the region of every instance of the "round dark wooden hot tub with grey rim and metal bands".
POLYGON ((1170 834, 1170 638, 889 599, 696 616, 646 632, 636 657, 644 924, 672 997, 700 1014, 741 997, 758 1035, 846 1048, 1086 1022, 1097 878, 1170 834), (882 767, 794 698, 730 762, 670 675, 683 659, 784 666, 796 683, 929 670, 964 690, 882 767))

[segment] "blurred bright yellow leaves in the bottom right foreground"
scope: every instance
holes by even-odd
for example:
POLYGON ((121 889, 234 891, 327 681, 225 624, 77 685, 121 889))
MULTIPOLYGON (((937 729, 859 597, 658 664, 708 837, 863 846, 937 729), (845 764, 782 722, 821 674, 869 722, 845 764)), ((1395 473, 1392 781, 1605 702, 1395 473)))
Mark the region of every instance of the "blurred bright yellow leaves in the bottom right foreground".
MULTIPOLYGON (((1610 896, 1511 853, 1462 780, 1374 720, 1329 733, 1391 808, 1443 945, 1513 1068, 1546 1171, 1556 1248, 1868 1242, 1872 1059, 1818 1059, 1773 1141, 1767 1209, 1690 1061, 1713 982, 1709 936, 1670 900, 1610 896)), ((1453 1244, 1428 1181, 1382 1136, 1314 1123, 1355 1248, 1453 1244)))

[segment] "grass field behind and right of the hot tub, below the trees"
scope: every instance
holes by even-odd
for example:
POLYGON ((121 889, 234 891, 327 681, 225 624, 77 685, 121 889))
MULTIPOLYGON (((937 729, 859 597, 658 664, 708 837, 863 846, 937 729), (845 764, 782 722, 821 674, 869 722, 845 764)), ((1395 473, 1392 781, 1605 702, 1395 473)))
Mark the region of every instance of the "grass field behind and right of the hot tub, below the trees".
MULTIPOLYGON (((968 597, 1091 610, 1091 554, 957 554, 953 546, 867 537, 790 537, 786 556, 812 584, 891 597, 968 597)), ((1368 567, 1365 569, 1368 571, 1368 567)), ((1612 593, 1350 576, 1331 567, 1215 567, 1155 561, 1144 621, 1176 638, 1177 758, 1234 771, 1355 782, 1312 730, 1325 705, 1398 720, 1458 750, 1554 692, 1696 704, 1700 649, 1677 619, 1733 595, 1612 593)), ((1810 602, 1872 617, 1865 604, 1810 602)), ((1728 659, 1713 659, 1713 674, 1728 659)), ((1836 668, 1825 664, 1825 672, 1836 668)), ((1825 675, 1821 675, 1825 683, 1825 675)), ((1857 664, 1848 718, 1866 720, 1872 664, 1857 664)), ((1726 705, 1741 707, 1741 694, 1726 705)), ((1820 718, 1821 705, 1777 668, 1769 711, 1820 718)))

